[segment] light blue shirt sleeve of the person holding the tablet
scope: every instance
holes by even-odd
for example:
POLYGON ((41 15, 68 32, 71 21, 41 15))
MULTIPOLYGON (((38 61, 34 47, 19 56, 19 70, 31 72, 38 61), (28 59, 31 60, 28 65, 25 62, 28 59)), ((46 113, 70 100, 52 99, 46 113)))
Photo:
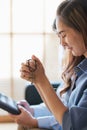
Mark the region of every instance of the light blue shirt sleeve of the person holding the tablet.
POLYGON ((34 117, 38 120, 39 128, 61 130, 61 126, 44 103, 31 107, 34 109, 34 117))

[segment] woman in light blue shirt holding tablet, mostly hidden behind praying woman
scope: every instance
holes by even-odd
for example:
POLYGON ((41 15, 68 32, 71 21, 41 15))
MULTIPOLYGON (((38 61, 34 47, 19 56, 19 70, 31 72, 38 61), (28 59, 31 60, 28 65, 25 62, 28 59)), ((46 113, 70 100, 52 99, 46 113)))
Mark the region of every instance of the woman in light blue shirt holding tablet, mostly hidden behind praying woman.
MULTIPOLYGON (((72 53, 68 50, 65 51, 65 56, 63 57, 63 73, 62 73, 62 78, 64 84, 61 84, 60 87, 57 89, 57 95, 58 97, 62 100, 62 102, 67 106, 68 100, 69 100, 69 95, 71 93, 71 90, 73 88, 74 81, 72 82, 73 79, 75 79, 74 75, 74 66, 76 66, 79 62, 81 62, 84 57, 74 57, 72 53), (67 58, 67 59, 66 59, 67 58), (72 79, 71 79, 72 77, 72 79)), ((53 114, 47 109, 46 105, 44 103, 38 104, 38 105, 33 105, 29 106, 29 104, 26 101, 20 101, 19 105, 23 105, 24 108, 28 112, 30 112, 34 118, 38 122, 38 126, 40 128, 45 128, 45 129, 53 129, 57 130, 60 128, 59 123, 56 121, 55 117, 53 114)), ((20 106, 19 106, 20 107, 20 106)), ((30 118, 26 118, 26 114, 29 115, 29 113, 24 110, 24 108, 21 108, 21 114, 18 116, 12 116, 15 121, 20 124, 18 127, 18 130, 28 130, 30 128, 30 118), (26 113, 26 114, 25 114, 26 113), (22 119, 23 118, 23 119, 22 119), (27 120, 27 121, 26 121, 27 120)), ((33 123, 33 120, 32 120, 33 123)), ((31 123, 31 125, 32 125, 31 123)), ((32 127, 34 127, 32 125, 32 127)))

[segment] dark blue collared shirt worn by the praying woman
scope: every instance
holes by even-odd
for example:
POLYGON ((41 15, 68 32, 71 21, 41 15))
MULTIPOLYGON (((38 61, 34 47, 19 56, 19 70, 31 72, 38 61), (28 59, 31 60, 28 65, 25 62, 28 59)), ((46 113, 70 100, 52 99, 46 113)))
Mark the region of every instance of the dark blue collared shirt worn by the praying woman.
POLYGON ((62 121, 62 130, 87 130, 87 58, 75 67, 77 80, 62 121))

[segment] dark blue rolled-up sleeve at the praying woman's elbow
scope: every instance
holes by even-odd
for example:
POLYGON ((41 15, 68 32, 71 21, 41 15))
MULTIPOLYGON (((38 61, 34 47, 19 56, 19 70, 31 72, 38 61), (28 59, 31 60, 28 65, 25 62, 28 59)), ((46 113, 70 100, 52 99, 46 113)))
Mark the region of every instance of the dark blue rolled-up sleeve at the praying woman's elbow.
POLYGON ((63 130, 87 130, 87 89, 77 105, 65 112, 62 121, 63 130))

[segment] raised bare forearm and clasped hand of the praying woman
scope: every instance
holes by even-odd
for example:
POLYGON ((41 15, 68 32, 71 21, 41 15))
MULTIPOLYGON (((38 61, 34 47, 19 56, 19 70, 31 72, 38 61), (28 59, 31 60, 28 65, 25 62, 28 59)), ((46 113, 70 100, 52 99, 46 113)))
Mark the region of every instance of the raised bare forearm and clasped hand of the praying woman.
MULTIPOLYGON (((43 101, 47 104, 48 108, 54 114, 57 121, 61 124, 63 115, 68 108, 64 106, 64 104, 56 95, 45 74, 43 65, 41 64, 40 60, 35 56, 32 56, 32 60, 35 60, 37 64, 37 69, 35 72, 33 72, 33 83, 41 95, 43 101)), ((31 72, 29 71, 29 68, 26 64, 22 64, 21 77, 28 81, 32 81, 32 79, 29 78, 31 77, 31 72)))

